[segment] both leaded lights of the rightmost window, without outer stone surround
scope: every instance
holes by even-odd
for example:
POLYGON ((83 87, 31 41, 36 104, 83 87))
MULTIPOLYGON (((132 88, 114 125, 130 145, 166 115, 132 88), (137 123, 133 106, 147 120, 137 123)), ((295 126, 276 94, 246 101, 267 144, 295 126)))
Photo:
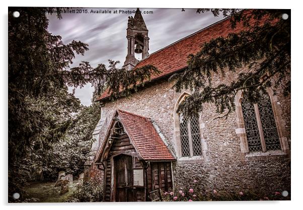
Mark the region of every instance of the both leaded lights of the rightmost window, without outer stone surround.
POLYGON ((269 96, 263 95, 257 104, 250 103, 244 97, 241 107, 249 151, 281 150, 269 96))

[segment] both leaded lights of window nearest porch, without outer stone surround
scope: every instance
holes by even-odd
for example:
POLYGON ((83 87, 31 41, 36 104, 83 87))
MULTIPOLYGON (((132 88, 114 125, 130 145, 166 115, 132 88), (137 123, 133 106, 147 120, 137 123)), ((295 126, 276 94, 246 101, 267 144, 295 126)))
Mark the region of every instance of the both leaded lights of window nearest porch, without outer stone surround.
POLYGON ((199 117, 185 120, 183 115, 179 114, 179 122, 182 157, 202 156, 199 117))

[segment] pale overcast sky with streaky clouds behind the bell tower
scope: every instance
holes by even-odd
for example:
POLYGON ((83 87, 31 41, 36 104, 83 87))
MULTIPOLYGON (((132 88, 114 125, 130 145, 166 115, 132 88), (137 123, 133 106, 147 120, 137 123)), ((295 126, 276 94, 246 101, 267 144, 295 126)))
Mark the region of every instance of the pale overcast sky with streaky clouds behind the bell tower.
MULTIPOLYGON (((53 35, 60 35, 64 44, 79 40, 89 44, 89 50, 84 56, 77 56, 72 66, 82 60, 89 61, 96 67, 98 63, 108 66, 108 59, 119 60, 117 67, 122 67, 127 54, 126 28, 128 16, 119 14, 122 11, 135 11, 135 8, 84 8, 87 14, 63 14, 61 20, 55 15, 49 16, 48 30, 53 35), (91 10, 109 10, 112 14, 92 14, 91 10), (113 11, 118 14, 113 14, 113 11)), ((214 17, 212 13, 197 14, 196 9, 143 9, 142 17, 148 29, 149 54, 185 37, 206 26, 215 23, 222 17, 214 17), (153 12, 153 14, 143 14, 153 12)), ((93 88, 87 85, 75 91, 83 105, 90 105, 93 88)))

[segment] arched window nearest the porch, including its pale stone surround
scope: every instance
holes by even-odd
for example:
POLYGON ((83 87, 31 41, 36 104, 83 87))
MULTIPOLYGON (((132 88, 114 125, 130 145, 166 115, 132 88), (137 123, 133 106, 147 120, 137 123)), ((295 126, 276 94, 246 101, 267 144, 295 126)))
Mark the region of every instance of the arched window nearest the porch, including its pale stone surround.
POLYGON ((203 161, 205 141, 202 135, 204 123, 200 116, 185 120, 182 113, 178 113, 179 104, 183 103, 188 92, 183 92, 174 108, 174 139, 178 163, 198 163, 203 161))

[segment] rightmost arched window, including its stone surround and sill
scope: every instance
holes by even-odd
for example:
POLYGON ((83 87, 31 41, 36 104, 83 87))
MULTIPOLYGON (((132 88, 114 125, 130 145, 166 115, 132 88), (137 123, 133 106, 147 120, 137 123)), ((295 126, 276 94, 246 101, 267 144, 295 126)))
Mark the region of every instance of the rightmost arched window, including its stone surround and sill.
POLYGON ((285 121, 271 89, 257 103, 252 104, 239 91, 236 94, 236 133, 240 137, 241 152, 251 156, 285 154, 289 150, 285 121))

